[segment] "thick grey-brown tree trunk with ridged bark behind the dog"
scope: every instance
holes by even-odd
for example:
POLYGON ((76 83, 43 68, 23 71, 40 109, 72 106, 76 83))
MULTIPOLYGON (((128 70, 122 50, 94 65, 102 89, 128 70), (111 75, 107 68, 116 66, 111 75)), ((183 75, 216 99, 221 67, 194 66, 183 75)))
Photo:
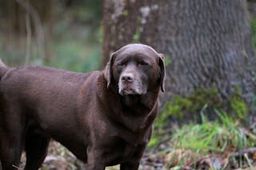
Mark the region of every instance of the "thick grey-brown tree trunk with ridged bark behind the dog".
POLYGON ((196 89, 241 94, 250 109, 256 58, 246 0, 105 0, 103 63, 122 45, 141 42, 166 54, 162 101, 196 89))

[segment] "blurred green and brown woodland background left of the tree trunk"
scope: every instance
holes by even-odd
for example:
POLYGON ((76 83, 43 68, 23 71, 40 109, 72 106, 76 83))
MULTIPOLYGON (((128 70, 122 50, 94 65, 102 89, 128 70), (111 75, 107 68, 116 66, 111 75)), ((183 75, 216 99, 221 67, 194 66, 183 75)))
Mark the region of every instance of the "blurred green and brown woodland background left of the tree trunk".
POLYGON ((2 0, 0 50, 9 65, 100 69, 101 0, 2 0))

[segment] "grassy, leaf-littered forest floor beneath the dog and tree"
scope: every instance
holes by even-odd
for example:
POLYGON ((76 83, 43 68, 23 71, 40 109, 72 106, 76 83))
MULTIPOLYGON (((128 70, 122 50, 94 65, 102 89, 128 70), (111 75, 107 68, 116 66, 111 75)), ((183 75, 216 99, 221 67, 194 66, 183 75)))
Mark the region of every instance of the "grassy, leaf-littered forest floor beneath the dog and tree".
MULTIPOLYGON (((165 135, 162 136, 158 144, 147 148, 139 169, 256 169, 255 127, 256 125, 250 128, 243 128, 234 124, 234 128, 238 130, 234 131, 231 127, 225 129, 224 125, 216 123, 214 125, 214 122, 205 122, 202 125, 185 125, 180 129, 173 128, 176 131, 175 133, 165 132, 165 135), (205 132, 203 134, 202 128, 209 129, 210 133, 205 132), (196 138, 193 139, 190 133, 193 133, 192 135, 196 136, 196 138), (198 138, 200 136, 198 133, 202 135, 202 138, 198 138), (209 136, 212 137, 210 138, 209 136)), ((156 129, 156 131, 158 130, 156 129)), ((21 167, 24 166, 24 162, 25 156, 22 156, 21 167)), ((41 169, 75 170, 86 168, 85 164, 77 160, 61 144, 52 141, 41 169)), ((118 170, 119 166, 106 169, 118 170)))

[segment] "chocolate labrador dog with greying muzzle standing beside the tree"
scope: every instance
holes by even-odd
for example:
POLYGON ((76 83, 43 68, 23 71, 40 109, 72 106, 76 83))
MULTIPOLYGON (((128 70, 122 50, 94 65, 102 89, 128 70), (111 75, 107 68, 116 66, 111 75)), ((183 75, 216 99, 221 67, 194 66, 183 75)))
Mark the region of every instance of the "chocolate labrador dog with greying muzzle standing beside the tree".
POLYGON ((164 91, 162 54, 148 45, 126 45, 111 55, 106 69, 91 73, 0 65, 3 170, 18 167, 23 149, 25 169, 40 168, 50 138, 87 169, 138 169, 164 91))

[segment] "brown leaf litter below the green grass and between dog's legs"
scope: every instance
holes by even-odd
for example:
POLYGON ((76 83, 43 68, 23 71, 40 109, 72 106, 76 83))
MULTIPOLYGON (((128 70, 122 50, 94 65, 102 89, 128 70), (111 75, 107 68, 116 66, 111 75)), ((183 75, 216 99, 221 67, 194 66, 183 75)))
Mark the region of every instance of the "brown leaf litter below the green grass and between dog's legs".
MULTIPOLYGON (((161 144, 166 147, 168 144, 161 144), (166 145, 166 146, 165 146, 166 145)), ((256 168, 256 148, 246 148, 240 152, 218 153, 210 152, 206 155, 186 149, 174 149, 169 152, 146 152, 142 158, 140 169, 164 170, 164 169, 254 169, 256 168)), ((77 160, 75 156, 60 144, 52 142, 50 152, 41 168, 48 169, 85 169, 85 164, 77 160)), ((109 167, 108 170, 118 170, 119 166, 109 167)))

